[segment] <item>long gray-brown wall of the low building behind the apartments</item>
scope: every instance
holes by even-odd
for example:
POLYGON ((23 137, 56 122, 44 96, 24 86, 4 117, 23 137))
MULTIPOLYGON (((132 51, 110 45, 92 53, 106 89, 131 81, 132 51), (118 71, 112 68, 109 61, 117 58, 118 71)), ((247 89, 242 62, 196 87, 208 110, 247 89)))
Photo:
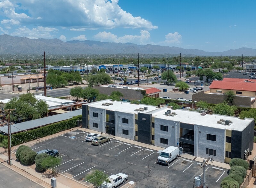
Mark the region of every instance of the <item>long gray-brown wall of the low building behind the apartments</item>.
POLYGON ((113 91, 119 91, 123 94, 122 98, 129 100, 141 100, 143 99, 143 95, 140 91, 137 90, 129 90, 122 88, 112 88, 112 87, 102 87, 102 86, 93 86, 93 88, 99 90, 100 93, 111 95, 113 91))

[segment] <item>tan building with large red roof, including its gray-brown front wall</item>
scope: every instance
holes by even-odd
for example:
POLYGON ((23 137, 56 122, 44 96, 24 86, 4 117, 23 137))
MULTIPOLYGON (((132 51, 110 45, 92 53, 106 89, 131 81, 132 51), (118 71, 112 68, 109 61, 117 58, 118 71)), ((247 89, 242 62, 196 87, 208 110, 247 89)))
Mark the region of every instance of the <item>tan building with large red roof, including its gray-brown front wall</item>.
POLYGON ((233 104, 228 104, 256 108, 256 80, 244 78, 224 78, 222 81, 214 80, 208 91, 197 92, 192 95, 196 101, 206 101, 211 104, 218 104, 227 100, 225 93, 234 91, 233 104))

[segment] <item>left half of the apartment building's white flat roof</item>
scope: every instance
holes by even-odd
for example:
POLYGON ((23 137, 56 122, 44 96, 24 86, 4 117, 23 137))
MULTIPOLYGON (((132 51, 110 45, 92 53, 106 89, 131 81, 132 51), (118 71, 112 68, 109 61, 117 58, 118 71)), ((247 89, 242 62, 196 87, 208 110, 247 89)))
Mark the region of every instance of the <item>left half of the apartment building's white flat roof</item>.
POLYGON ((135 104, 130 104, 128 102, 111 101, 109 99, 93 102, 93 103, 90 103, 88 106, 111 110, 111 111, 124 112, 128 114, 136 114, 137 113, 136 109, 144 108, 144 107, 147 107, 148 109, 144 111, 140 111, 140 113, 146 114, 146 113, 149 113, 150 111, 154 111, 157 109, 156 106, 143 105, 143 104, 135 105, 135 104), (102 104, 106 102, 112 103, 113 105, 103 106, 102 104))

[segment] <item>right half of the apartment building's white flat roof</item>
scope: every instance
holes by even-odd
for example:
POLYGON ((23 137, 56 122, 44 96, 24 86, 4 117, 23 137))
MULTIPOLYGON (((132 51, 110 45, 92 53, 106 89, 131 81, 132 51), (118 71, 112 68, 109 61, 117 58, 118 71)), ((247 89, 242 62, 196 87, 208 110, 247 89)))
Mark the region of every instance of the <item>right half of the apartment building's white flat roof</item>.
POLYGON ((152 113, 152 117, 161 118, 165 120, 179 121, 182 123, 194 124, 194 125, 202 125, 205 127, 213 127, 217 129, 235 129, 238 131, 242 131, 249 123, 253 121, 252 118, 245 118, 244 120, 239 119, 234 116, 225 116, 219 114, 205 114, 201 115, 201 113, 190 110, 172 110, 170 108, 162 108, 161 110, 155 111, 152 113), (166 116, 165 112, 167 110, 171 110, 175 112, 177 115, 175 116, 166 116), (220 119, 232 121, 230 125, 223 125, 217 123, 220 119))

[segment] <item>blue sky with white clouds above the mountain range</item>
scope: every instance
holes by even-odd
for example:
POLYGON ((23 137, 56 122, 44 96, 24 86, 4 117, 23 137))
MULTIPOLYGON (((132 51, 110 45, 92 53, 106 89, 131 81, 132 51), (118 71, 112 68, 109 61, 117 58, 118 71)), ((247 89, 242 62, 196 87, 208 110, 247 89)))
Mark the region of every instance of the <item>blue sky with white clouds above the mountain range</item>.
POLYGON ((0 0, 0 34, 256 49, 255 7, 255 0, 0 0))

